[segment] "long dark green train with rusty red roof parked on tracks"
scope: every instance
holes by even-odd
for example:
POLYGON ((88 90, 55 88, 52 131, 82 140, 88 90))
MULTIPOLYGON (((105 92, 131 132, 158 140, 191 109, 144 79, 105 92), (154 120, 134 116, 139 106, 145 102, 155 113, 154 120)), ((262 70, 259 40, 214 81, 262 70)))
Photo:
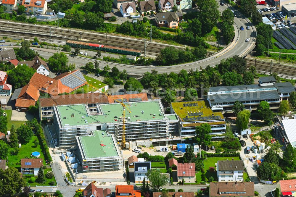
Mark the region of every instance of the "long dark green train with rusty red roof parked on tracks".
POLYGON ((134 56, 140 56, 141 51, 135 50, 135 49, 126 49, 126 48, 120 48, 115 46, 107 46, 102 44, 94 44, 94 43, 86 43, 86 42, 78 42, 78 41, 72 41, 68 40, 66 42, 67 45, 72 47, 80 47, 83 49, 94 49, 94 50, 100 50, 105 52, 111 52, 111 53, 119 53, 119 54, 125 54, 125 55, 134 55, 134 56))

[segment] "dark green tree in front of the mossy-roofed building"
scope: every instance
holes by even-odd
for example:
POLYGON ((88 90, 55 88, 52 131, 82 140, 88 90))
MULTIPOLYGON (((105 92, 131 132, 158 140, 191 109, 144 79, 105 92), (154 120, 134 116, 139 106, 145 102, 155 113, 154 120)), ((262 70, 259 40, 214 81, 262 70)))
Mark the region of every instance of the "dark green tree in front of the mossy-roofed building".
POLYGON ((211 141, 211 126, 208 123, 203 123, 195 128, 197 134, 196 141, 199 145, 207 146, 211 141))

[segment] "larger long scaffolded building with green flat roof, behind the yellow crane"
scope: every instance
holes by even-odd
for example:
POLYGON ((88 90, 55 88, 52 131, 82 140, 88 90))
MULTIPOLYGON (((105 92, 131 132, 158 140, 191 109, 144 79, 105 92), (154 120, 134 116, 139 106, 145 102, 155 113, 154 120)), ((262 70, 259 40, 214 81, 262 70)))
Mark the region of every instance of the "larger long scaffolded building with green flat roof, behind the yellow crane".
MULTIPOLYGON (((126 141, 168 138, 170 120, 164 115, 160 101, 126 103, 126 141), (128 111, 130 110, 131 113, 128 111)), ((115 141, 122 139, 122 113, 120 104, 98 104, 90 112, 86 104, 54 106, 54 125, 59 145, 75 145, 75 137, 90 135, 93 130, 107 130, 115 141)))

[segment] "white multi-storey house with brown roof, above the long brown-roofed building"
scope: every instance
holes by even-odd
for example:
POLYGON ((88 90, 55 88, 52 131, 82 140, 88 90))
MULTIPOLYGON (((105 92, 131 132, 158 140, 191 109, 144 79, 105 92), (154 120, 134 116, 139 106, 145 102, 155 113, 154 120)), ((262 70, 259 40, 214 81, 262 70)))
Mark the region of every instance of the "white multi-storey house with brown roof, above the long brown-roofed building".
POLYGON ((243 161, 218 161, 217 177, 218 182, 242 182, 244 172, 243 161))

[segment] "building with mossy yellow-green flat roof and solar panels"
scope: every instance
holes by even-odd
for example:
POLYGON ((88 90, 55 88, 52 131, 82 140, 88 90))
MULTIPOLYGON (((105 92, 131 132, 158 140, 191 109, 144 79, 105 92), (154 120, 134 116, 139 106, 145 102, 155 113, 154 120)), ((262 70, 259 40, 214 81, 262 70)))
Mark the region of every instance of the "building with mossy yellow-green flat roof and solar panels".
POLYGON ((208 123, 212 135, 225 133, 226 122, 221 112, 213 112, 205 101, 175 102, 170 105, 170 112, 179 118, 180 136, 195 136, 196 126, 208 123))

